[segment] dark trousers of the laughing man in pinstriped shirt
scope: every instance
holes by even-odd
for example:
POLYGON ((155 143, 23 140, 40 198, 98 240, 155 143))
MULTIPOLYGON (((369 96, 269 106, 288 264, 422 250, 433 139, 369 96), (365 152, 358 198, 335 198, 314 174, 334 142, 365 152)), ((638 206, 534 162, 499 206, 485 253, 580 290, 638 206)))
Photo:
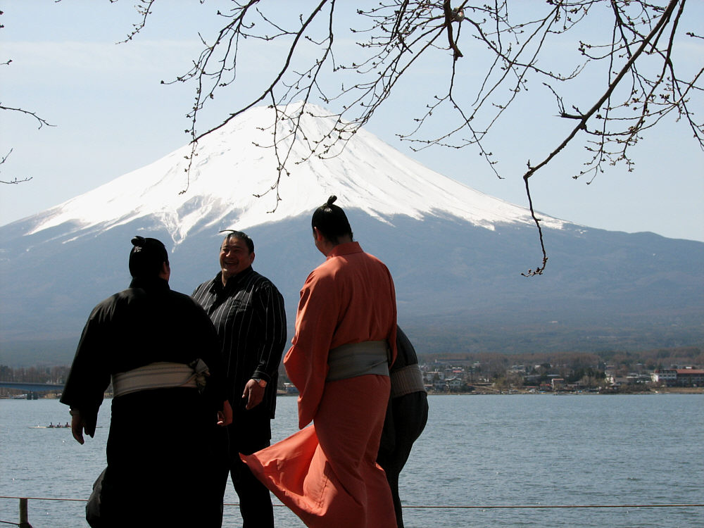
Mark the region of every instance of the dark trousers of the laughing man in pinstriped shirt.
POLYGON ((220 477, 221 496, 225 496, 227 477, 230 475, 234 491, 239 497, 242 528, 274 528, 274 508, 270 492, 239 458, 239 453, 251 455, 270 446, 270 418, 263 413, 237 413, 232 425, 226 427, 222 433, 222 449, 227 453, 228 464, 223 467, 220 477))

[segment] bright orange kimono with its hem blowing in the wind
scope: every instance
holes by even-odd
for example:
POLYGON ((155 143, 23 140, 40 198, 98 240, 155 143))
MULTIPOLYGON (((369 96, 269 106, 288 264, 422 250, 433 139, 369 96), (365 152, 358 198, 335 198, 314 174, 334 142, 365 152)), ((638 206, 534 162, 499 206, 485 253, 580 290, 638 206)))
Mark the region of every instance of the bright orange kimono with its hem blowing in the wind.
POLYGON ((376 463, 389 377, 327 381, 328 353, 388 341, 396 357, 396 293, 389 270, 357 242, 340 244, 306 279, 293 346, 284 358, 298 388, 302 430, 253 455, 252 472, 310 528, 394 528, 384 471, 376 463), (306 427, 311 420, 313 425, 306 427))

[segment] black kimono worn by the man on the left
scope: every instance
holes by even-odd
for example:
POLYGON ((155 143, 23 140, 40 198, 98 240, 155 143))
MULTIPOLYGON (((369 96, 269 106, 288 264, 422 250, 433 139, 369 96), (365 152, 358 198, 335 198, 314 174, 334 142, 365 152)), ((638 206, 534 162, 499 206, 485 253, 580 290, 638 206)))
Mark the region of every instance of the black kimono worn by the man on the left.
POLYGON ((206 388, 149 389, 113 398, 100 526, 213 526, 213 434, 225 372, 208 315, 163 279, 133 280, 92 311, 61 402, 80 410, 93 436, 111 375, 155 362, 201 358, 206 388), (104 524, 103 524, 104 523, 104 524))

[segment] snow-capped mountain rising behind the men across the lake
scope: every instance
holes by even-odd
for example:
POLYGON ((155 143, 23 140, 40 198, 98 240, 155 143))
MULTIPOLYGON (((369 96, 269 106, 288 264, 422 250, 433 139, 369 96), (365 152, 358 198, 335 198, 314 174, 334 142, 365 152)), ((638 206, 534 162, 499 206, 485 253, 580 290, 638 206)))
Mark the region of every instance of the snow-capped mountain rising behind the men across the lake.
POLYGON ((310 215, 330 194, 355 239, 396 281, 398 321, 419 353, 613 351, 704 344, 704 243, 543 215, 548 268, 525 208, 474 191, 360 130, 326 159, 303 143, 334 127, 307 106, 304 142, 277 123, 290 173, 276 189, 272 108, 42 213, 0 227, 0 363, 70 363, 92 307, 130 282, 135 234, 171 252, 171 287, 218 272, 220 230, 248 232, 254 268, 287 303, 322 262, 310 215), (184 192, 181 192, 184 191, 184 192), (255 195, 263 195, 257 197, 255 195), (280 201, 277 201, 280 196, 280 201))

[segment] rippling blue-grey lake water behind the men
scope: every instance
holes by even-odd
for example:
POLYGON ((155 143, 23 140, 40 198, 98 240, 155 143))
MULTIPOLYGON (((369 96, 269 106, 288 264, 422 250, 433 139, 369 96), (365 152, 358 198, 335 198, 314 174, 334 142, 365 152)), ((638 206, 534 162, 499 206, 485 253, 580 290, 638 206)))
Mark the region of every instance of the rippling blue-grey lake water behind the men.
MULTIPOLYGON (((703 395, 430 396, 429 403, 428 425, 401 474, 408 528, 704 527, 702 506, 652 507, 704 503, 703 395), (545 508, 555 505, 629 507, 545 508)), ((105 464, 109 405, 95 439, 80 446, 70 429, 30 429, 69 420, 58 401, 0 400, 0 496, 87 498, 105 464)), ((296 430, 296 398, 279 398, 273 424, 275 441, 296 430)), ((232 485, 225 502, 237 502, 232 485)), ((29 522, 87 527, 84 508, 30 500, 29 522)), ((279 528, 303 527, 283 506, 274 513, 279 528)), ((1 498, 0 521, 18 519, 18 500, 1 498)), ((237 506, 225 507, 223 526, 241 526, 237 506)))

